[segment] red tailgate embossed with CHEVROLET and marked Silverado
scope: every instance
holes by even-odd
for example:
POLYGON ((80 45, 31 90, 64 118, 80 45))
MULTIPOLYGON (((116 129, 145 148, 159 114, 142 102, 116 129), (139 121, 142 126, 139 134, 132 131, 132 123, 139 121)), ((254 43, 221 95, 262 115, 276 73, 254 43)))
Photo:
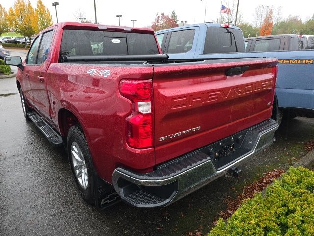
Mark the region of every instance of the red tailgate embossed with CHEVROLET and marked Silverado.
POLYGON ((276 64, 277 59, 228 59, 155 65, 155 163, 270 118, 276 64))

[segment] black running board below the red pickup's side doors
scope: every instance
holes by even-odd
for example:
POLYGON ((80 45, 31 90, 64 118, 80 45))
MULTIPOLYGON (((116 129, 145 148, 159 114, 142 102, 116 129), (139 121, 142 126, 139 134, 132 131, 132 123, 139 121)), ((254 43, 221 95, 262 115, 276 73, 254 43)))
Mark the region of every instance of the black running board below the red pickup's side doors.
POLYGON ((55 132, 54 129, 38 115, 38 113, 28 112, 27 115, 45 135, 49 143, 55 147, 61 146, 63 144, 62 137, 57 132, 55 132))

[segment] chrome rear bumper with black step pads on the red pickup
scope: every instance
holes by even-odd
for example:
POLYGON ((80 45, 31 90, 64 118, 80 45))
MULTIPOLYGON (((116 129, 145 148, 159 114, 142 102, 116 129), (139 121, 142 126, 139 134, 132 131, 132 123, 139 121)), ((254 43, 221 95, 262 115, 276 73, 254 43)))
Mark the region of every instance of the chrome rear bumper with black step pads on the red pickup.
POLYGON ((237 136, 244 137, 229 154, 215 159, 208 153, 217 143, 193 151, 167 162, 149 173, 136 173, 117 168, 112 182, 121 199, 136 207, 163 207, 194 192, 232 167, 247 161, 259 151, 273 144, 278 123, 272 119, 253 126, 217 143, 230 143, 237 136), (245 134, 243 136, 243 134, 245 134), (225 162, 224 162, 225 161, 225 162))

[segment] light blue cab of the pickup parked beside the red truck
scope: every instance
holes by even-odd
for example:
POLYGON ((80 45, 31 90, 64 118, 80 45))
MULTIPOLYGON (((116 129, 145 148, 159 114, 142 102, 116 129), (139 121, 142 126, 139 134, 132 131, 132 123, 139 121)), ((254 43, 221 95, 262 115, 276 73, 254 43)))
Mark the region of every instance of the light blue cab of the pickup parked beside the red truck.
POLYGON ((187 25, 157 31, 156 37, 161 50, 170 55, 170 59, 192 59, 210 53, 245 52, 242 30, 231 25, 187 25), (227 34, 229 37, 226 37, 227 34))

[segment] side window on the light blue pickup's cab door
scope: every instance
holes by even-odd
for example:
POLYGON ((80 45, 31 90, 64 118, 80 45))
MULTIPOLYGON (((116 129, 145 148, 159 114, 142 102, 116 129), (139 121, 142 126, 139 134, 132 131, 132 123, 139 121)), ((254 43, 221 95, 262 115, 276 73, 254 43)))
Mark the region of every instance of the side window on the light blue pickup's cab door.
POLYGON ((168 53, 186 53, 192 49, 195 29, 172 32, 168 53))

